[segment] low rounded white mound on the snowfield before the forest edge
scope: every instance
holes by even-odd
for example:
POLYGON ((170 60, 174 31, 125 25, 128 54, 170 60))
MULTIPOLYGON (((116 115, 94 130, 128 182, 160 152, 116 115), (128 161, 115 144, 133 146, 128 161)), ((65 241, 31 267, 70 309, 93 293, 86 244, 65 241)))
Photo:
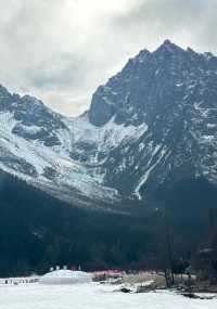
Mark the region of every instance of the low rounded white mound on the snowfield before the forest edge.
POLYGON ((91 274, 84 271, 72 270, 55 270, 46 273, 40 278, 41 284, 76 284, 76 283, 89 283, 92 281, 91 274))

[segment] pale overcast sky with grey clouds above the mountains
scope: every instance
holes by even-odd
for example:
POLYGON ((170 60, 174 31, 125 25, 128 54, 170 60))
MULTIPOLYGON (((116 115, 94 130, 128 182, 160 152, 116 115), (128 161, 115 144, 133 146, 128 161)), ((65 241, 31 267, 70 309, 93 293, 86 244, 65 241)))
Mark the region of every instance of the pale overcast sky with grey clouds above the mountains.
POLYGON ((78 115, 141 49, 217 50, 216 0, 0 0, 0 83, 78 115))

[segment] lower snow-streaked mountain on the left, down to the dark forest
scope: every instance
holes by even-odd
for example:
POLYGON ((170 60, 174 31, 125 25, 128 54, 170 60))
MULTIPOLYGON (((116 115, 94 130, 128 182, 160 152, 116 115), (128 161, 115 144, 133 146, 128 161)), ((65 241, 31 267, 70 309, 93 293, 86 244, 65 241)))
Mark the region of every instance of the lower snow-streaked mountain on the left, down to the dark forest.
POLYGON ((85 165, 71 157, 68 124, 41 101, 1 87, 0 169, 74 204, 79 196, 113 201, 116 191, 101 185, 85 165))

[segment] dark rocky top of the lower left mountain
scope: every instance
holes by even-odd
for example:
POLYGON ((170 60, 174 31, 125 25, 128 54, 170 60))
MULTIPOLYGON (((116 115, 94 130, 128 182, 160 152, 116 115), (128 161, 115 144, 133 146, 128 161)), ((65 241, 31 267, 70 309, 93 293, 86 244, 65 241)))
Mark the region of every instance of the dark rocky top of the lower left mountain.
POLYGON ((60 145, 56 131, 66 129, 62 116, 30 95, 11 94, 0 87, 0 112, 13 114, 13 133, 27 140, 39 140, 49 146, 60 145))

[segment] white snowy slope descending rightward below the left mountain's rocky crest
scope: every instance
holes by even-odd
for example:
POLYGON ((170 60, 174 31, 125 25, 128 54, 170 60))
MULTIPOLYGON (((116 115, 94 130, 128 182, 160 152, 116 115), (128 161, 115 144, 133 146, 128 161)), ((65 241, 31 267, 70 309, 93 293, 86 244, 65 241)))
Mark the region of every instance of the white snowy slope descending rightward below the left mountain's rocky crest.
MULTIPOLYGON (((53 120, 52 116, 59 115, 51 113, 48 125, 37 121, 31 124, 29 120, 25 125, 22 117, 16 119, 16 113, 17 107, 0 111, 2 170, 46 189, 60 198, 64 197, 67 202, 74 201, 72 193, 76 192, 93 199, 113 199, 116 195, 115 190, 102 186, 99 179, 89 176, 84 165, 71 158, 72 133, 65 124, 62 123, 55 130, 53 127, 49 128, 53 120), (43 131, 42 139, 38 134, 41 131, 43 131), (52 143, 51 136, 54 137, 52 143)), ((60 118, 62 120, 62 116, 60 118)))

